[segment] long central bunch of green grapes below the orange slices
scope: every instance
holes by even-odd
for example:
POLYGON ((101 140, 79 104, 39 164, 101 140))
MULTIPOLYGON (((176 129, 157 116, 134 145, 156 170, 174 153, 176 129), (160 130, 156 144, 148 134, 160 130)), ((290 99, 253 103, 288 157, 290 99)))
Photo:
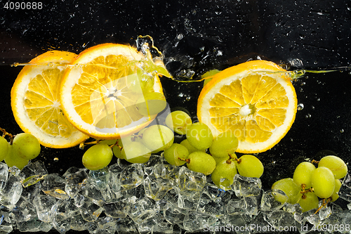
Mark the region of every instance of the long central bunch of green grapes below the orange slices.
POLYGON ((112 155, 131 163, 145 163, 152 154, 159 153, 172 165, 210 175, 213 183, 230 190, 234 176, 257 177, 263 174, 263 164, 253 155, 237 157, 239 141, 229 131, 213 138, 211 129, 203 123, 192 122, 184 111, 169 113, 165 125, 154 124, 118 140, 96 141, 83 155, 84 167, 98 170, 106 167, 112 155), (174 143, 174 132, 186 135, 180 143, 174 143))

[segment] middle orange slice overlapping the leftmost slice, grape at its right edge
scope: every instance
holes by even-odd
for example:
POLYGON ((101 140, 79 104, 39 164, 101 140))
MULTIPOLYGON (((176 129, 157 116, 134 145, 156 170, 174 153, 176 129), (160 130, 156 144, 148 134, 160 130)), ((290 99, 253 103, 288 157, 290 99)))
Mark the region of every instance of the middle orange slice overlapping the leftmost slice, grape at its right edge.
MULTIPOLYGON (((150 56, 121 44, 100 44, 79 54, 60 87, 63 112, 74 126, 94 138, 134 134, 157 115, 142 115, 138 103, 146 93, 161 93, 150 56)), ((160 69, 162 72, 164 70, 160 69)))

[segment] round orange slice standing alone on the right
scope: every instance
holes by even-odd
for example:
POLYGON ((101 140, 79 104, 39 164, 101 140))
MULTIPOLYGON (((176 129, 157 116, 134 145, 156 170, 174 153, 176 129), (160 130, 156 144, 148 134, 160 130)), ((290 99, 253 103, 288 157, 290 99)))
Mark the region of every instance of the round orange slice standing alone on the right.
POLYGON ((297 110, 296 91, 286 70, 265 60, 252 60, 213 76, 197 103, 199 121, 213 136, 222 132, 239 139, 237 152, 264 152, 289 131, 297 110))

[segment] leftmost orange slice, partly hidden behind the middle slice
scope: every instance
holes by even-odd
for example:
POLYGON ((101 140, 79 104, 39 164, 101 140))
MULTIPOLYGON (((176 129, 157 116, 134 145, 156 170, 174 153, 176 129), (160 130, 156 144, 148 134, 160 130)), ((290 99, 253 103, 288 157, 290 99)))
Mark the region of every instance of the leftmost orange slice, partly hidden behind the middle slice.
POLYGON ((76 56, 63 51, 37 56, 22 68, 11 90, 15 121, 46 147, 69 148, 88 138, 63 115, 58 96, 65 64, 76 56))

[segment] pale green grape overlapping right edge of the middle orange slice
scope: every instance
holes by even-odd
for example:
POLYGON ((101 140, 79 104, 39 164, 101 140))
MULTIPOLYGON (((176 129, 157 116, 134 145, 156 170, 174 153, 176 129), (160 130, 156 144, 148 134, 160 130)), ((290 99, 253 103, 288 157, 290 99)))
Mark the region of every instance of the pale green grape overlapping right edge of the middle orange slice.
POLYGON ((141 115, 151 116, 164 110, 166 105, 166 98, 162 93, 152 92, 138 98, 136 107, 141 115))

